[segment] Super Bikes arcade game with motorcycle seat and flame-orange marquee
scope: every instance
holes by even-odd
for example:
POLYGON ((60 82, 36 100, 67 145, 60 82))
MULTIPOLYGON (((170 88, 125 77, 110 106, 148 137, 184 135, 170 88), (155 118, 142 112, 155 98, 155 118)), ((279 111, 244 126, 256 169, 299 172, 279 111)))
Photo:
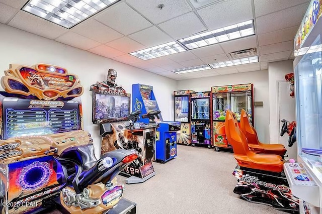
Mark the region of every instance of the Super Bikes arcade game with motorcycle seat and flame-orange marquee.
POLYGON ((54 65, 11 64, 1 83, 1 212, 44 213, 57 206, 64 213, 115 211, 123 193, 115 167, 137 155, 124 150, 96 159, 91 135, 83 131, 78 77, 54 65))

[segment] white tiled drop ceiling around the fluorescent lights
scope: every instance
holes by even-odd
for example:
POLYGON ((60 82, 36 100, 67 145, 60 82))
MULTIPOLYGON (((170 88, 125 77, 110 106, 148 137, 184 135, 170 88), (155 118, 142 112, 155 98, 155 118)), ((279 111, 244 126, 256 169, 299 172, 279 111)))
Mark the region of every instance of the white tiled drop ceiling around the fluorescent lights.
POLYGON ((20 9, 27 0, 0 0, 0 23, 175 80, 268 68, 292 59, 306 0, 121 0, 66 29, 20 9), (157 6, 163 4, 160 10, 157 6), (254 20, 255 35, 150 60, 129 53, 200 32, 254 20), (229 52, 257 48, 259 62, 176 74, 172 70, 230 60, 229 52))

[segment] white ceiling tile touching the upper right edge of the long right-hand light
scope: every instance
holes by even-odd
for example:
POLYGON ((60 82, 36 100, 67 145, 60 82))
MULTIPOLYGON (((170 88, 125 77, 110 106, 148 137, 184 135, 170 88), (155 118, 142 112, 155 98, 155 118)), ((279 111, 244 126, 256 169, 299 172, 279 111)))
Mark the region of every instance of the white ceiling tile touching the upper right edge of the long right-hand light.
POLYGON ((208 30, 253 19, 251 0, 226 0, 197 10, 208 30))

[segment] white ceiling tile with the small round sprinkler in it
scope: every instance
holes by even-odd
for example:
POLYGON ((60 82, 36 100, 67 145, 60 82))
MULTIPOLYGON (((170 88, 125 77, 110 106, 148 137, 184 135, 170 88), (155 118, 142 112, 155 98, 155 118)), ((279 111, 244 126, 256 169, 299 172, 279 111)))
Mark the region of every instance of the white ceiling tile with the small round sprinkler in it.
POLYGON ((159 24, 192 11, 192 8, 185 0, 127 0, 134 9, 154 24, 159 24), (165 7, 160 10, 159 4, 165 7))

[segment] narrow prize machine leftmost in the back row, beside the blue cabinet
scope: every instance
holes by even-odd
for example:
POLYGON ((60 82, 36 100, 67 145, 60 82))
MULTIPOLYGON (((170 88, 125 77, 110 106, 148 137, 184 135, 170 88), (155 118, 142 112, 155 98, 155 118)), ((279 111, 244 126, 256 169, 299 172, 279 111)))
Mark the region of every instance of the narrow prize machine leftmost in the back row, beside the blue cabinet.
POLYGON ((190 93, 193 90, 174 91, 175 121, 181 122, 181 129, 177 132, 177 144, 191 145, 190 142, 190 93))

